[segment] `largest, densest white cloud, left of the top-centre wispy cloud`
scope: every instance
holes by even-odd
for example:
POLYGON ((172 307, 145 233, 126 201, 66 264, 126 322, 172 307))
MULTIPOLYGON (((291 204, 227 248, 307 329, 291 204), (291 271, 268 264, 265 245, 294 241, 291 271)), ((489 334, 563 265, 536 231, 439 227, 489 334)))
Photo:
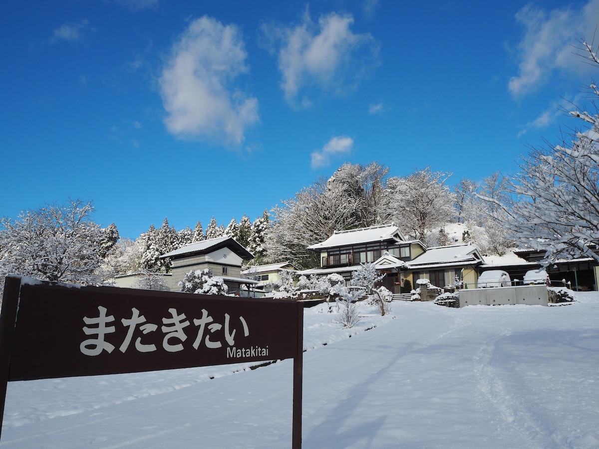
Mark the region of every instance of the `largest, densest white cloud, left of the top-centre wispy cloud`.
POLYGON ((168 131, 179 138, 241 144, 258 122, 258 100, 232 87, 247 72, 240 32, 204 16, 190 23, 160 79, 168 131))

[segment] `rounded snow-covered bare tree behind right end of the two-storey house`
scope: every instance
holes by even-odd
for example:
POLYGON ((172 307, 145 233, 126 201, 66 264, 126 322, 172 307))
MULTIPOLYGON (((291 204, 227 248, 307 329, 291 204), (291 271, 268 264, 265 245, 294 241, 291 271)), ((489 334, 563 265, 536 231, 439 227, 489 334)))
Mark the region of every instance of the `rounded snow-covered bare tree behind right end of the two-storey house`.
POLYGON ((427 167, 407 177, 389 178, 385 221, 395 223, 406 235, 425 240, 432 229, 455 216, 453 194, 446 185, 449 176, 427 167))

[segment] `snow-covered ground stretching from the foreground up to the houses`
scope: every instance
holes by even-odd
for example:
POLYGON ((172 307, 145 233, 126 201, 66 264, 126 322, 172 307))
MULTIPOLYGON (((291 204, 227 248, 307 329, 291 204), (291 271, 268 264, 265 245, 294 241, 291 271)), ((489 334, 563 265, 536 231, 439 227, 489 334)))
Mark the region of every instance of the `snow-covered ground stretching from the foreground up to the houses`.
MULTIPOLYGON (((343 330, 305 311, 303 447, 599 447, 599 293, 392 312, 343 330)), ((292 365, 9 383, 1 444, 289 447, 292 365)))

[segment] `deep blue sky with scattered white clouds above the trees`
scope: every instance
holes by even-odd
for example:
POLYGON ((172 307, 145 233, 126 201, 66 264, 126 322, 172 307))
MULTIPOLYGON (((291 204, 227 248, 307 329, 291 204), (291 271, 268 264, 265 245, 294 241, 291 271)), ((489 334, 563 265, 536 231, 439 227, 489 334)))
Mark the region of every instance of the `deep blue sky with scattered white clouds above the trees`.
POLYGON ((254 220, 344 162, 515 174, 577 125, 597 23, 599 0, 4 2, 0 215, 92 200, 137 238, 254 220))

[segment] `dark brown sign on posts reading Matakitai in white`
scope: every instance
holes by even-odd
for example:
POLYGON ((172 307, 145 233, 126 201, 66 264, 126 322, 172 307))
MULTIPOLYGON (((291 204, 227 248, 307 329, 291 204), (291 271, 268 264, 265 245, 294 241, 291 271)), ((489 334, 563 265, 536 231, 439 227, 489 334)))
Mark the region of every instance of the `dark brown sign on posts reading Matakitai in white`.
POLYGON ((303 306, 295 301, 8 277, 0 314, 2 412, 7 381, 293 358, 299 447, 302 326, 303 306))

